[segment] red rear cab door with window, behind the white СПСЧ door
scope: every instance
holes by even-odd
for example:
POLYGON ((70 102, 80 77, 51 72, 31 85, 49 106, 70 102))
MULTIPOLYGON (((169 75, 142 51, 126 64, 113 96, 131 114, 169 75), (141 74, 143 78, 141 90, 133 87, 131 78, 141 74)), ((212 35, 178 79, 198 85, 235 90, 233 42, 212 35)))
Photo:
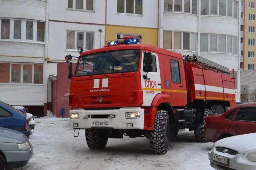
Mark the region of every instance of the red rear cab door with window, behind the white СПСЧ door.
POLYGON ((183 60, 172 57, 169 62, 172 106, 185 106, 187 104, 187 85, 183 60))

